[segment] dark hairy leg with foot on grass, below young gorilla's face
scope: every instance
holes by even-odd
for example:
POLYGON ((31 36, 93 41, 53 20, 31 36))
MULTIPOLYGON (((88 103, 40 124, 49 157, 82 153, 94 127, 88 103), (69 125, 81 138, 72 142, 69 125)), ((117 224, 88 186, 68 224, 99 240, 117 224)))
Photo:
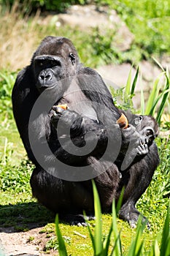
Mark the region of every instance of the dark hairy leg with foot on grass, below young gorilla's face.
MULTIPOLYGON (((125 191, 123 206, 120 208, 119 217, 120 219, 127 220, 131 227, 136 226, 140 214, 139 211, 136 210, 136 202, 150 185, 158 164, 158 149, 155 143, 153 143, 149 148, 149 153, 143 159, 136 162, 128 170, 122 172, 118 195, 120 195, 120 190, 123 186, 125 186, 125 191)), ((143 220, 145 219, 146 218, 143 217, 143 220)), ((148 222, 147 225, 149 227, 148 222)))

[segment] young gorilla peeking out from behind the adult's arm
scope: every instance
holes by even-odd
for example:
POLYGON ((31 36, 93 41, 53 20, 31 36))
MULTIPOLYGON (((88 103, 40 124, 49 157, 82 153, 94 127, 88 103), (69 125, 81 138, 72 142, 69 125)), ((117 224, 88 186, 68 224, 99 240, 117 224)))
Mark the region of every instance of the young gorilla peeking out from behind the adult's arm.
MULTIPOLYGON (((155 118, 152 116, 137 116, 128 111, 123 112, 123 114, 128 119, 128 123, 136 127, 136 131, 141 135, 141 144, 138 146, 138 153, 130 167, 122 168, 121 156, 117 158, 116 164, 122 174, 122 178, 116 198, 118 199, 121 189, 125 187, 123 205, 120 208, 119 217, 128 220, 131 227, 135 227, 139 217, 139 211, 135 207, 136 202, 147 189, 146 179, 150 184, 155 166, 159 162, 158 151, 154 142, 154 139, 158 136, 159 129, 155 118), (153 151, 155 151, 156 155, 152 154, 153 151)), ((127 127, 125 123, 120 125, 122 129, 127 127)), ((143 217, 143 220, 145 221, 146 218, 143 217)), ((149 222, 147 222, 147 226, 150 227, 149 222)))

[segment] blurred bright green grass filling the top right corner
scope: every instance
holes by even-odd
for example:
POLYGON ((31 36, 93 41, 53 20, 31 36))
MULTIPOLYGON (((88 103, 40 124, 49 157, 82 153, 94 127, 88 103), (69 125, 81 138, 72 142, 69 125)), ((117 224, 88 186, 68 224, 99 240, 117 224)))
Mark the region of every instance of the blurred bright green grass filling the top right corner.
POLYGON ((125 20, 134 34, 131 51, 143 59, 170 53, 169 40, 169 0, 117 0, 107 1, 125 20))

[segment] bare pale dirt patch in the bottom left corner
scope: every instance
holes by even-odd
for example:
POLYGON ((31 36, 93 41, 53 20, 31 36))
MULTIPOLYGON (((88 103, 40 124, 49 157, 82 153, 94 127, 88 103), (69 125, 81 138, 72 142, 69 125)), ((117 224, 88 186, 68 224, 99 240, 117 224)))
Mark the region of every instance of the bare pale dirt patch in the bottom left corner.
MULTIPOLYGON (((6 227, 1 229, 0 246, 5 256, 16 255, 47 255, 44 248, 47 241, 46 233, 39 233, 42 227, 36 227, 27 232, 15 232, 13 227, 6 227)), ((51 234, 51 237, 55 234, 51 234)), ((1 253, 0 253, 1 254, 1 253)), ((57 251, 50 251, 50 255, 58 255, 57 251)))

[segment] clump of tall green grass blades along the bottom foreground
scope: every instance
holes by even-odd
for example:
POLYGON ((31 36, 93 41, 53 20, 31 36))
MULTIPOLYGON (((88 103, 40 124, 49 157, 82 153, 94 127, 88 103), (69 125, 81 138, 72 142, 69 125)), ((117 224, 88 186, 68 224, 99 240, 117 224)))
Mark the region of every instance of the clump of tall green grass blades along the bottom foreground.
MULTIPOLYGON (((123 239, 122 230, 117 228, 117 213, 120 208, 115 208, 115 201, 112 203, 112 222, 109 225, 109 231, 107 231, 107 236, 104 236, 102 231, 102 219, 101 219, 101 204, 98 197, 98 192, 96 185, 93 181, 93 195, 94 195, 94 209, 95 209, 95 227, 92 228, 88 225, 89 237, 92 243, 93 256, 169 256, 170 249, 170 218, 169 218, 169 207, 167 209, 166 219, 162 228, 162 236, 160 238, 154 238, 149 248, 146 248, 146 233, 144 229, 146 223, 142 223, 142 217, 139 218, 136 227, 136 233, 134 238, 131 238, 131 244, 128 249, 124 251, 122 244, 123 239), (144 236, 143 236, 144 235, 144 236), (158 245, 158 241, 161 241, 161 245, 158 245)), ((123 194, 122 194, 123 196, 123 194)), ((121 205, 122 197, 120 197, 121 205)), ((55 219, 55 230, 57 234, 57 240, 55 245, 57 246, 60 256, 67 256, 68 251, 66 249, 66 242, 61 234, 61 229, 58 225, 58 215, 55 219)))

